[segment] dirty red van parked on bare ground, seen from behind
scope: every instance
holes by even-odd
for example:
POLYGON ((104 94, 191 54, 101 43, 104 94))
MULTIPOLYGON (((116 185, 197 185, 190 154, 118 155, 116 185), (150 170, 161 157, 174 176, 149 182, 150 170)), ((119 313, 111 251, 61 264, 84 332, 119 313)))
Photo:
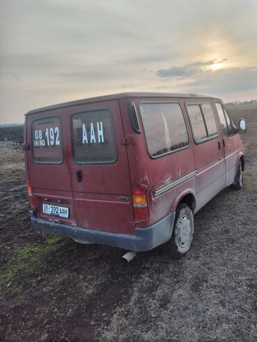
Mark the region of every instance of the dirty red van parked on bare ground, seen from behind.
POLYGON ((212 96, 99 96, 28 112, 25 128, 33 226, 77 242, 182 255, 193 214, 242 188, 246 123, 212 96))

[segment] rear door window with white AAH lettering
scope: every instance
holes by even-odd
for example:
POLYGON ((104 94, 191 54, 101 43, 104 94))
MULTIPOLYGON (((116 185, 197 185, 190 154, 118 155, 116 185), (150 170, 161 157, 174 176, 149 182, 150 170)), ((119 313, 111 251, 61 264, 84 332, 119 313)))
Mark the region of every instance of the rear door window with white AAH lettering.
POLYGON ((107 164, 116 160, 113 119, 108 110, 74 114, 72 140, 78 164, 107 164))

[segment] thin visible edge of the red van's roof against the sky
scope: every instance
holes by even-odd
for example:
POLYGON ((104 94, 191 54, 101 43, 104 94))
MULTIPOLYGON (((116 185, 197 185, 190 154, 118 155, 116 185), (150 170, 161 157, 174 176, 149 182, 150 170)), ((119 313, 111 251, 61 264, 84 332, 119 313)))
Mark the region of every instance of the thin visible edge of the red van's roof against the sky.
POLYGON ((123 92, 118 94, 110 94, 110 95, 103 95, 103 96, 95 96, 90 97, 88 99, 81 99, 76 101, 69 101, 64 103, 58 103, 56 105, 48 105, 47 107, 37 108, 35 110, 30 110, 25 115, 34 114, 37 112, 45 112, 47 110, 54 110, 58 108, 65 108, 71 107, 73 105, 83 105, 84 103, 93 103, 93 102, 100 102, 100 101, 110 101, 110 100, 117 100, 117 99, 125 99, 125 98, 133 98, 133 97, 174 97, 174 98, 208 98, 208 99, 218 99, 215 96, 207 95, 207 94, 181 94, 181 93, 163 93, 163 92, 123 92))

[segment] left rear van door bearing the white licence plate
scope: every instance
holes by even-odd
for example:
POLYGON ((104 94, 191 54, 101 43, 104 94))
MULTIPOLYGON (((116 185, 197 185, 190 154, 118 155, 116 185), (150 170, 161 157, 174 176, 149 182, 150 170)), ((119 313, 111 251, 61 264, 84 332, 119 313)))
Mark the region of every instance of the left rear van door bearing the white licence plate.
POLYGON ((62 110, 27 116, 28 179, 39 218, 76 225, 66 153, 66 121, 62 110))

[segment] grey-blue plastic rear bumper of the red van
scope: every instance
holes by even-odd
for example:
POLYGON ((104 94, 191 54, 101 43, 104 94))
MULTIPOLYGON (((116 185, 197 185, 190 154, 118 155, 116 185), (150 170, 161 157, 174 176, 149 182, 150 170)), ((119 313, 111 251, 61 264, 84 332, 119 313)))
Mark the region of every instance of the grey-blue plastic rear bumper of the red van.
POLYGON ((82 243, 99 243, 101 245, 114 246, 126 250, 135 250, 136 252, 151 250, 168 241, 172 237, 175 216, 175 213, 172 213, 148 228, 135 228, 135 235, 129 235, 73 227, 72 225, 38 219, 34 212, 30 213, 34 228, 71 237, 82 243))

